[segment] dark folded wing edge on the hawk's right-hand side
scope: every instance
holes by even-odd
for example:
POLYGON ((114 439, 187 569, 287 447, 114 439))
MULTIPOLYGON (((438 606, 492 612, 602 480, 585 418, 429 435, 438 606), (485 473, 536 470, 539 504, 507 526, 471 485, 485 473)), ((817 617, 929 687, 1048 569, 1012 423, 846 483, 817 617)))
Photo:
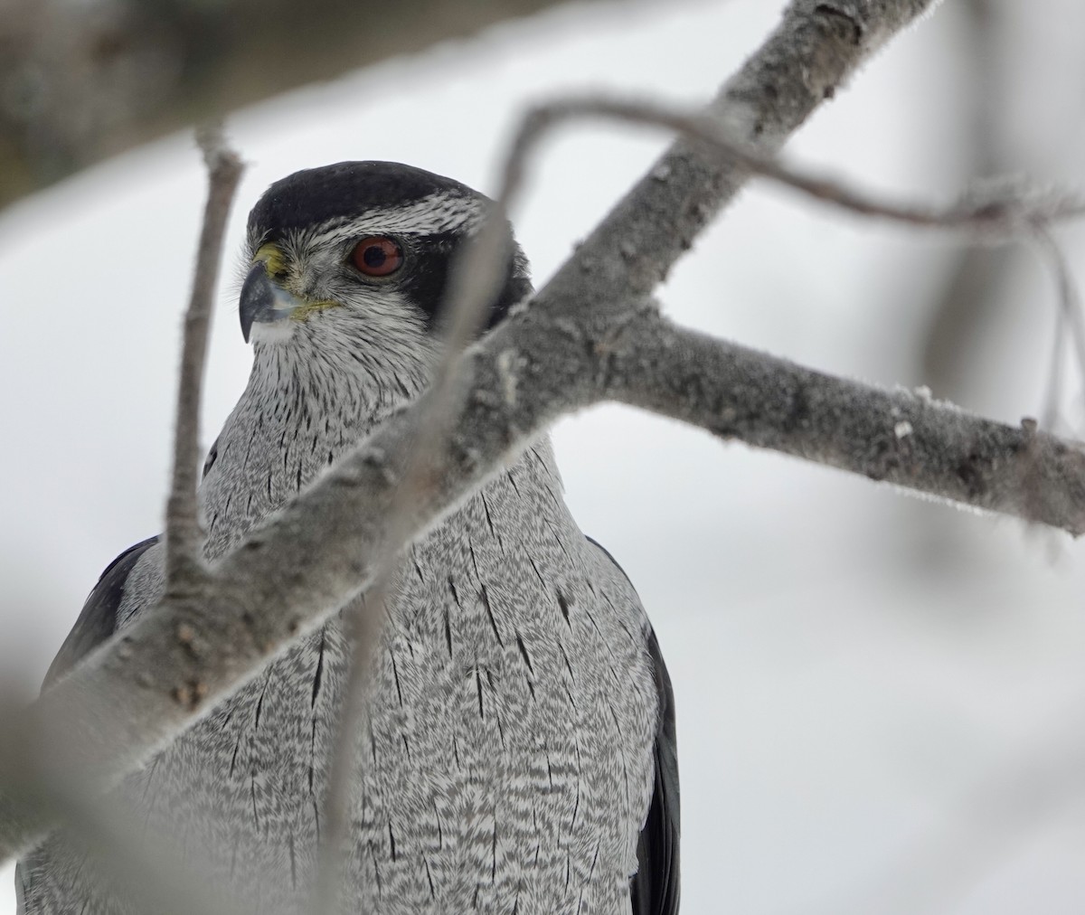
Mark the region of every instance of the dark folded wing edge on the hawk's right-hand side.
MULTIPOLYGON (((623 575, 625 570, 604 546, 599 547, 623 575)), ((628 575, 626 580, 628 581, 628 575)), ((631 582, 630 582, 631 584, 631 582)), ((637 873, 629 885, 633 915, 676 915, 679 897, 678 839, 681 818, 678 798, 678 741, 675 733, 675 695, 671 675, 663 663, 655 633, 648 630, 648 653, 655 671, 655 691, 660 716, 652 757, 655 762, 655 787, 648 818, 637 841, 637 873)))

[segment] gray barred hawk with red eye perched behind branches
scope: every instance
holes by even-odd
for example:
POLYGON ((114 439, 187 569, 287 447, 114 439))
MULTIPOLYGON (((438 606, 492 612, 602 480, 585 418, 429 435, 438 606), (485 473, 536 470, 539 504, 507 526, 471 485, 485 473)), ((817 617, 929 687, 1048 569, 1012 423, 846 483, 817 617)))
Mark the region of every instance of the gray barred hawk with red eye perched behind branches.
MULTIPOLYGON (((239 307, 252 373, 200 487, 209 561, 422 392, 449 271, 488 206, 388 162, 306 169, 259 199, 239 307)), ((509 232, 486 330, 532 291, 509 232)), ((162 592, 151 537, 102 574, 47 685, 162 592)), ((671 683, 628 579, 570 516, 549 440, 405 550, 388 594, 356 735, 343 911, 677 912, 671 683)), ((343 612, 115 792, 241 911, 296 913, 312 898, 343 612)), ((27 915, 136 911, 63 831, 21 862, 16 889, 27 915)))

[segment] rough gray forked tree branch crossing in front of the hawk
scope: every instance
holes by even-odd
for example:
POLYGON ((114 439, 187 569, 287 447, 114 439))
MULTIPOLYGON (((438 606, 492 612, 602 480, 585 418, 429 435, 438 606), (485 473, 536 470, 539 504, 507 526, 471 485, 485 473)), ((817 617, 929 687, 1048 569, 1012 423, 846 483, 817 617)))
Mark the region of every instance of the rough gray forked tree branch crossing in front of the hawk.
MULTIPOLYGON (((773 154, 923 0, 796 0, 712 112, 773 154)), ((617 398, 724 436, 911 485, 946 498, 1085 529, 1085 455, 1031 424, 968 417, 907 392, 877 392, 672 327, 654 287, 742 185, 704 144, 677 142, 534 303, 470 350, 451 381, 447 449, 404 506, 404 535, 501 469, 557 416, 617 398)), ((426 399, 383 424, 283 512, 47 692, 25 741, 46 778, 100 790, 138 766, 299 632, 363 589, 388 543, 396 484, 426 399), (335 544, 335 549, 329 549, 335 544), (256 612, 259 608, 259 612, 256 612), (77 775, 76 775, 77 774, 77 775)), ((0 853, 49 817, 0 795, 0 853)))

